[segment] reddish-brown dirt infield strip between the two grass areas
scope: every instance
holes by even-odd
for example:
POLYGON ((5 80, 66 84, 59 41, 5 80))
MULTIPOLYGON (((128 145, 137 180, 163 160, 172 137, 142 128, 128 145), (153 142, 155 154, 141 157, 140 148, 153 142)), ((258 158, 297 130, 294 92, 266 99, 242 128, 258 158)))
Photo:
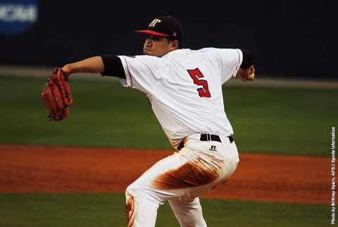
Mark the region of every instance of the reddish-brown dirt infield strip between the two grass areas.
MULTIPOLYGON (((0 192, 124 192, 168 151, 0 145, 0 192)), ((240 154, 204 197, 330 204, 329 157, 240 154)))

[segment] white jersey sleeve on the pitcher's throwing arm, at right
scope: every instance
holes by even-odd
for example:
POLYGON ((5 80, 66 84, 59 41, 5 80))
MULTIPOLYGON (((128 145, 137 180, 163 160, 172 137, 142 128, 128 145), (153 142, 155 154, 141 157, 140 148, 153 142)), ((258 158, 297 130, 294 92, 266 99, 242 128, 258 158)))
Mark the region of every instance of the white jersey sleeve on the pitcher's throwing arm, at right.
POLYGON ((217 63, 218 68, 220 68, 222 84, 230 78, 236 77, 239 66, 243 61, 243 54, 240 49, 206 48, 201 49, 201 51, 204 51, 217 63))

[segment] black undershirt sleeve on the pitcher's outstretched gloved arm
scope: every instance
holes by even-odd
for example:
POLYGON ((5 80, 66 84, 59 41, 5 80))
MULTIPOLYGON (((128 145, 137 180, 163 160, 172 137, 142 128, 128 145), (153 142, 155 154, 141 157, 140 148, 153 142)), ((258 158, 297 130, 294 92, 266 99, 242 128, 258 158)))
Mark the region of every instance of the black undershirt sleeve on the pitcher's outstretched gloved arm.
POLYGON ((101 56, 101 59, 104 62, 104 73, 101 73, 102 76, 109 75, 118 78, 125 78, 125 70, 121 59, 118 56, 106 55, 101 56))

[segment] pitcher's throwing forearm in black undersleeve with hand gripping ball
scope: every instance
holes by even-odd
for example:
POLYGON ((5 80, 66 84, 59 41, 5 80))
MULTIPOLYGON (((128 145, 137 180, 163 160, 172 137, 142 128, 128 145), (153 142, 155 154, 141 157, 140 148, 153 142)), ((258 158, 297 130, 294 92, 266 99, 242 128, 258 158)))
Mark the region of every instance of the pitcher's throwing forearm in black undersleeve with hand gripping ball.
POLYGON ((241 49, 243 54, 243 61, 239 70, 237 71, 237 75, 242 81, 252 81, 255 76, 255 68, 253 64, 255 63, 255 57, 250 51, 241 49))

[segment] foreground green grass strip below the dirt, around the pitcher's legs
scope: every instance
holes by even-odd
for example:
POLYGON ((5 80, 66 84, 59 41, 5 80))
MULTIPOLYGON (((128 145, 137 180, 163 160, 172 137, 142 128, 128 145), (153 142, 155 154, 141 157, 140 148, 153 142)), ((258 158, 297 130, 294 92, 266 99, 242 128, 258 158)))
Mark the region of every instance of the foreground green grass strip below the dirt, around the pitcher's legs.
MULTIPOLYGON (((208 226, 328 226, 330 207, 201 198, 208 226)), ((0 226, 126 226, 120 193, 1 193, 0 226)), ((158 209, 156 226, 180 226, 168 203, 158 209)))

